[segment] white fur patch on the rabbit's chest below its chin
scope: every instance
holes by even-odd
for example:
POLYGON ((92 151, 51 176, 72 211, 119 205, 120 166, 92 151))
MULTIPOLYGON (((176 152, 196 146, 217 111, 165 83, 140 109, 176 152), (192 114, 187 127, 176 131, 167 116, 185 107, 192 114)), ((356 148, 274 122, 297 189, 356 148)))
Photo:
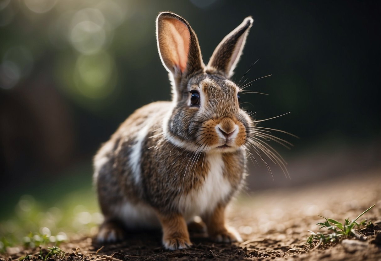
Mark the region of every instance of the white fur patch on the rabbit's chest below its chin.
POLYGON ((222 155, 209 154, 207 161, 209 171, 203 185, 179 198, 179 208, 186 221, 191 220, 194 216, 213 211, 216 205, 231 192, 231 184, 223 175, 222 155))

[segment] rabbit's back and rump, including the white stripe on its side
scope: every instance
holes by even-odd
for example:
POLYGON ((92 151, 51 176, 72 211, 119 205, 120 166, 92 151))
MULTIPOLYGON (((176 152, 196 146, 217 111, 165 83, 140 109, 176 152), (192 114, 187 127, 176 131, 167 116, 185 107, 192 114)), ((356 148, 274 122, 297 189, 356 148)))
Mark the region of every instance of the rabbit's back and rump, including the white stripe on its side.
POLYGON ((140 158, 147 134, 170 105, 154 102, 136 110, 94 157, 93 179, 106 219, 120 220, 127 228, 160 225, 154 210, 144 201, 140 158))

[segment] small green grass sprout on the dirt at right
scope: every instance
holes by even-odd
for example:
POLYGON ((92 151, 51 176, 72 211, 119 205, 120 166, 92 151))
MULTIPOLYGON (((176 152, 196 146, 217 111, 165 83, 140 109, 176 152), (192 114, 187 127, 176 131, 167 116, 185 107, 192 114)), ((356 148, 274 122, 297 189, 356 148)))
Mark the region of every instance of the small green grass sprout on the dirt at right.
POLYGON ((358 228, 358 229, 363 228, 363 227, 366 228, 366 227, 371 225, 371 221, 362 220, 359 223, 357 223, 356 221, 362 215, 364 215, 369 210, 371 210, 373 207, 375 207, 375 205, 371 206, 370 208, 368 208, 367 210, 362 212, 359 216, 357 216, 357 218, 355 218, 351 221, 349 221, 349 218, 344 219, 344 223, 341 223, 341 222, 334 220, 332 218, 326 218, 324 216, 318 215, 318 216, 325 219, 325 222, 317 223, 317 225, 320 226, 319 229, 326 228, 331 233, 329 233, 329 234, 323 234, 320 232, 315 233, 315 232, 309 230, 309 232, 311 232, 311 236, 307 237, 306 245, 308 245, 310 248, 312 248, 313 243, 317 242, 316 247, 319 247, 320 245, 322 245, 322 244, 324 245, 328 242, 338 241, 339 239, 341 239, 343 237, 349 237, 349 236, 359 237, 359 233, 357 231, 355 231, 355 228, 358 228))

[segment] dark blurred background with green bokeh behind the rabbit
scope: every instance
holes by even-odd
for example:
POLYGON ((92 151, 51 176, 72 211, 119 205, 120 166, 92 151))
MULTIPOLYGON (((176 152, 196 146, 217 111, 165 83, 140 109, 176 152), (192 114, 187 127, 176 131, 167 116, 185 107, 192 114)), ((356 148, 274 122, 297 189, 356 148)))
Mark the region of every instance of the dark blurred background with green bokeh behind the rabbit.
POLYGON ((164 10, 189 21, 205 63, 243 18, 255 20, 233 80, 272 76, 248 88, 269 95, 241 95, 242 107, 256 119, 291 112, 261 126, 300 139, 277 134, 295 147, 274 145, 291 180, 249 166, 249 189, 379 168, 378 1, 0 0, 0 237, 100 222, 92 156, 135 109, 170 99, 155 39, 164 10))

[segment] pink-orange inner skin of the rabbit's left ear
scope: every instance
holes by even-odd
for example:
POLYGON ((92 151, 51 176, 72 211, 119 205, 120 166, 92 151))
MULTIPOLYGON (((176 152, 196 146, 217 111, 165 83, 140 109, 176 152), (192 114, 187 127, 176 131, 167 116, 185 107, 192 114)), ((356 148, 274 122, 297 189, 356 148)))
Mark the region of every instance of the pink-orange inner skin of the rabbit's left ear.
POLYGON ((184 72, 187 66, 190 43, 187 25, 176 18, 163 18, 160 38, 160 50, 162 55, 166 56, 163 59, 169 59, 173 66, 184 72))

